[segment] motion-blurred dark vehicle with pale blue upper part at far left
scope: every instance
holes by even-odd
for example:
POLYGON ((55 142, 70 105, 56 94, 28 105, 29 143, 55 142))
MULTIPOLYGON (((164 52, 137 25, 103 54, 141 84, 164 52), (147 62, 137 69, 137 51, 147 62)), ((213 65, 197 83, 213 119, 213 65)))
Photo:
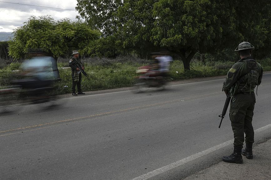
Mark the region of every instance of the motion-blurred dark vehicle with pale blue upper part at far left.
POLYGON ((60 81, 58 71, 53 70, 55 59, 42 54, 32 54, 22 63, 22 71, 7 77, 4 84, 11 84, 0 90, 0 113, 13 111, 16 104, 57 102, 56 82, 60 81), (33 56, 34 55, 34 56, 33 56))

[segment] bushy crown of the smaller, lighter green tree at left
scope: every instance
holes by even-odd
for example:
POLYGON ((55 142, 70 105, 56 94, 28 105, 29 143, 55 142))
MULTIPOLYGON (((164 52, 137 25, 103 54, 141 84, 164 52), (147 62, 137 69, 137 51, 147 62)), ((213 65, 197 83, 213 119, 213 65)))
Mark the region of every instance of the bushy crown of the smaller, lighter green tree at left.
POLYGON ((72 49, 86 53, 92 41, 101 35, 81 21, 55 21, 51 16, 31 16, 13 34, 9 41, 9 55, 13 58, 24 58, 30 49, 42 48, 56 60, 70 54, 72 49))

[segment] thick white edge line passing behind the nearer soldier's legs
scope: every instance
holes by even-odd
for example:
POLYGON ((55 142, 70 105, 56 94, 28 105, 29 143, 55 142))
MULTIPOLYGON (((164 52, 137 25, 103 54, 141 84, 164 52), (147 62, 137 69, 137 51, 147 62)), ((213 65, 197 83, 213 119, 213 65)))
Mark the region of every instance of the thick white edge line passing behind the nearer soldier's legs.
MULTIPOLYGON (((266 126, 264 126, 264 127, 261 127, 261 128, 259 128, 259 129, 256 129, 256 130, 254 130, 254 132, 255 132, 255 133, 259 133, 259 132, 262 132, 262 131, 264 131, 264 130, 266 130, 266 129, 268 129, 268 128, 271 128, 271 124, 268 124, 268 125, 266 125, 266 126)), ((192 161, 192 160, 194 160, 194 159, 197 159, 197 158, 199 158, 199 157, 201 157, 201 156, 204 156, 204 155, 207 155, 207 154, 209 154, 209 153, 211 153, 211 152, 214 152, 215 150, 219 150, 219 149, 221 149, 221 148, 223 148, 223 147, 225 147, 225 146, 227 146, 227 145, 232 144, 233 142, 234 142, 234 139, 231 139, 231 140, 229 140, 229 141, 226 141, 226 142, 224 142, 224 143, 221 143, 221 144, 219 144, 219 145, 216 145, 216 146, 214 146, 214 147, 211 147, 211 148, 209 148, 209 149, 207 149, 207 150, 201 151, 201 152, 199 152, 199 153, 196 153, 196 154, 194 154, 194 155, 188 156, 188 157, 186 157, 186 158, 184 158, 184 159, 181 159, 181 160, 179 160, 179 161, 176 161, 176 162, 174 162, 174 163, 168 164, 168 165, 166 165, 166 166, 164 166, 164 167, 155 169, 155 170, 153 170, 153 171, 151 171, 151 172, 149 172, 149 173, 143 174, 143 175, 141 175, 141 176, 139 176, 139 177, 136 177, 136 178, 134 178, 134 179, 132 179, 132 180, 145 180, 145 179, 148 179, 148 178, 152 178, 152 177, 154 177, 154 176, 156 176, 156 175, 158 175, 158 174, 164 173, 164 172, 166 172, 166 171, 168 171, 168 170, 170 170, 170 169, 172 169, 172 168, 176 168, 176 167, 178 167, 178 166, 180 166, 180 165, 183 165, 183 164, 185 164, 185 163, 187 163, 187 162, 190 162, 190 161, 192 161)))

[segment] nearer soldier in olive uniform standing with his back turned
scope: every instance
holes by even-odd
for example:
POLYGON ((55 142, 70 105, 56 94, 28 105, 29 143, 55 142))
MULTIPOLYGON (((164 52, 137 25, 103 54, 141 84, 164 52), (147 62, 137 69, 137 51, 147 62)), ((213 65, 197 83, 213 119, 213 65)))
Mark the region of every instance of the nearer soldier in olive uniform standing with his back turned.
POLYGON ((249 42, 242 42, 235 51, 240 55, 227 74, 222 90, 232 96, 229 118, 234 133, 234 152, 224 156, 222 160, 228 163, 242 164, 242 155, 252 159, 252 144, 254 143, 254 129, 252 126, 254 104, 256 102, 254 89, 260 85, 263 76, 262 66, 256 62, 251 53, 254 49, 249 42), (245 138, 244 138, 245 133, 245 138), (246 148, 242 150, 243 143, 246 148))

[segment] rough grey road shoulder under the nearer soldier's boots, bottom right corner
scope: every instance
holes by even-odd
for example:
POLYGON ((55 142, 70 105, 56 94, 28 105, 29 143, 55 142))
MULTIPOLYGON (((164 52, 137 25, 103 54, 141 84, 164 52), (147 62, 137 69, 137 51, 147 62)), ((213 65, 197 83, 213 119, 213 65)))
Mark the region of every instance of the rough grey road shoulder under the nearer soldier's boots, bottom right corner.
POLYGON ((253 159, 243 156, 243 164, 223 161, 199 171, 185 180, 192 179, 271 179, 271 138, 253 146, 253 159))

